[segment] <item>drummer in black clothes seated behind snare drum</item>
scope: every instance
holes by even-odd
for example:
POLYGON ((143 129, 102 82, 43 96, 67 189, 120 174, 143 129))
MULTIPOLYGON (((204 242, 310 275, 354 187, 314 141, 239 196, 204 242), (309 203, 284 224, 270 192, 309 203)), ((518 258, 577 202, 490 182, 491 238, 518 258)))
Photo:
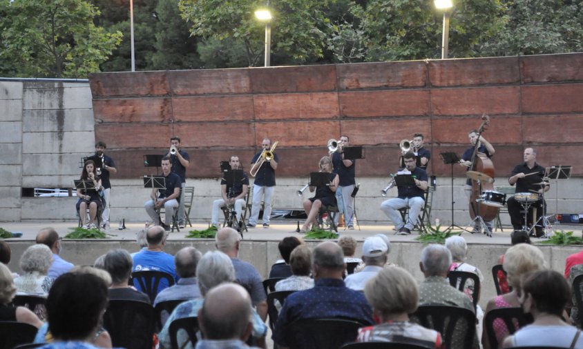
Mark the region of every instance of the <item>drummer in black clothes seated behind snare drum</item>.
POLYGON ((514 230, 522 230, 524 226, 524 215, 520 212, 522 204, 527 201, 534 201, 532 206, 528 209, 528 227, 533 226, 533 208, 537 209, 537 221, 535 222, 535 233, 531 232, 531 236, 542 237, 544 231, 542 228, 542 217, 544 215, 544 208, 546 203, 542 197, 542 193, 546 192, 551 187, 547 181, 544 181, 544 167, 537 162, 537 151, 533 148, 526 148, 524 150, 524 163, 519 163, 512 171, 512 177, 508 178, 510 186, 516 184, 515 193, 524 193, 524 195, 516 194, 510 197, 506 203, 508 204, 508 214, 514 230), (522 204, 521 204, 522 203, 522 204))

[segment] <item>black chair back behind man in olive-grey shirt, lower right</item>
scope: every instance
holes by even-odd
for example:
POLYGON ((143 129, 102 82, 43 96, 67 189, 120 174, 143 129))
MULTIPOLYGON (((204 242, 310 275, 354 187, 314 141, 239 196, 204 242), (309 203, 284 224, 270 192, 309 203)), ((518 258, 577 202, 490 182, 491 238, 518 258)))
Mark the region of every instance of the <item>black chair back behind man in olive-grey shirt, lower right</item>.
POLYGON ((455 306, 419 306, 411 321, 441 333, 447 349, 472 348, 476 338, 476 315, 455 306))

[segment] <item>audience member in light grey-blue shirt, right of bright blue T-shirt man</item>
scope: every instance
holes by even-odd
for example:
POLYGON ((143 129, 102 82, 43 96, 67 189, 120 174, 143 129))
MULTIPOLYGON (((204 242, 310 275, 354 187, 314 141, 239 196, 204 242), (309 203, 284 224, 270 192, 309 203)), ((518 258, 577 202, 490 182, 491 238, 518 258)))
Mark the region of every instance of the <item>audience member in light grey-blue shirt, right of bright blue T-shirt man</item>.
POLYGON ((200 290, 196 282, 196 265, 202 254, 191 246, 179 250, 175 257, 176 274, 180 277, 178 283, 158 293, 154 306, 161 301, 187 300, 200 297, 200 290))

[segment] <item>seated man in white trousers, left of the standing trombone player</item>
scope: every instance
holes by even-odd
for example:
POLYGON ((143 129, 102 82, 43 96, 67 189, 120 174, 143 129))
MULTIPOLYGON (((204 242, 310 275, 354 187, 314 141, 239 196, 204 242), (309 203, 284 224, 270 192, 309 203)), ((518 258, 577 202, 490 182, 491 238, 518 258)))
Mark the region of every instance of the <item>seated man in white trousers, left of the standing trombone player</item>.
MULTIPOLYGON (((239 157, 231 156, 229 160, 229 165, 231 165, 231 170, 240 170, 241 164, 239 162, 239 157)), ((222 178, 220 181, 220 195, 222 199, 213 201, 213 212, 211 214, 211 226, 220 228, 218 223, 218 214, 220 208, 224 206, 235 206, 235 212, 237 215, 237 223, 241 221, 241 212, 243 206, 245 206, 245 195, 247 195, 247 190, 249 188, 249 177, 243 173, 243 179, 238 183, 227 183, 227 179, 222 178)), ((238 227, 234 227, 238 229, 238 227)))

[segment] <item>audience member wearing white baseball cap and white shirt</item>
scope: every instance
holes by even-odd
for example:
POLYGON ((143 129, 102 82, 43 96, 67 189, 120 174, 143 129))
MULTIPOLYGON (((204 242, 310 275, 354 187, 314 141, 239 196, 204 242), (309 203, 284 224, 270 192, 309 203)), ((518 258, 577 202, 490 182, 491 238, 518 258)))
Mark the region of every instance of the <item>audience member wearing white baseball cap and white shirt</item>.
POLYGON ((346 287, 357 291, 364 290, 367 281, 383 270, 383 266, 387 263, 388 255, 389 246, 387 246, 381 237, 367 237, 363 243, 363 261, 365 262, 365 268, 348 275, 344 279, 346 287))

